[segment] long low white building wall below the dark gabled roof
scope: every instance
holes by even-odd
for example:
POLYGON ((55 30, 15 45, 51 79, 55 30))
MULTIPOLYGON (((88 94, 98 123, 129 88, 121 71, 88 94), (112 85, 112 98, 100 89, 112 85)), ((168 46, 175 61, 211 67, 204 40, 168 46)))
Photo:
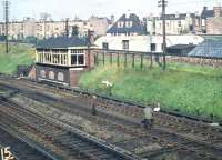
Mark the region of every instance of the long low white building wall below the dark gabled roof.
MULTIPOLYGON (((194 34, 167 36, 167 47, 176 44, 194 44, 203 42, 203 38, 194 34)), ((100 49, 162 52, 162 36, 103 36, 95 41, 100 49)))

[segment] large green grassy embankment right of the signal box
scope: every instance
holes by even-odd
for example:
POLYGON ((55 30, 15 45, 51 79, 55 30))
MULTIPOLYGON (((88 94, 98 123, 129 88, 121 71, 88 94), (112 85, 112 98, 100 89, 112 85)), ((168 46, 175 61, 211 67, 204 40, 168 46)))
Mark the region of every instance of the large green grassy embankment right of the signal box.
POLYGON ((101 81, 114 86, 114 97, 205 118, 222 119, 222 69, 170 63, 161 68, 135 69, 105 64, 84 73, 80 87, 108 93, 101 81))

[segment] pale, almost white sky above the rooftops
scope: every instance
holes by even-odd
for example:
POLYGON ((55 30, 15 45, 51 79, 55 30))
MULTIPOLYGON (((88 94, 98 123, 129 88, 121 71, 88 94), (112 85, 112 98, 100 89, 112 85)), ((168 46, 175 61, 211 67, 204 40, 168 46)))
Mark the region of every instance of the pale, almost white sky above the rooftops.
MULTIPOLYGON (((41 12, 48 12, 54 20, 65 18, 88 19, 91 16, 118 19, 122 13, 133 12, 140 18, 150 13, 158 14, 159 0, 9 0, 10 19, 21 20, 23 17, 40 18, 41 12)), ((212 8, 222 0, 168 0, 167 13, 201 12, 203 6, 212 8)), ((0 20, 3 19, 2 3, 0 20)))

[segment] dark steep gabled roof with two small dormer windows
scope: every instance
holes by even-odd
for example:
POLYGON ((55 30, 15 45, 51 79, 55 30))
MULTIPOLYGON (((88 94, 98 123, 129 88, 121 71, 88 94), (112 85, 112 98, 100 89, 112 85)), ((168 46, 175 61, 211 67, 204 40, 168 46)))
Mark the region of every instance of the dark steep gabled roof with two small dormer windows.
POLYGON ((127 32, 133 32, 133 33, 139 33, 139 34, 144 34, 144 28, 142 22, 140 21, 139 17, 134 13, 131 13, 129 18, 123 14, 120 17, 120 19, 108 30, 107 33, 127 33, 127 32), (122 28, 118 28, 118 22, 124 22, 124 26, 122 28), (125 22, 127 21, 132 21, 132 27, 127 27, 125 22))

